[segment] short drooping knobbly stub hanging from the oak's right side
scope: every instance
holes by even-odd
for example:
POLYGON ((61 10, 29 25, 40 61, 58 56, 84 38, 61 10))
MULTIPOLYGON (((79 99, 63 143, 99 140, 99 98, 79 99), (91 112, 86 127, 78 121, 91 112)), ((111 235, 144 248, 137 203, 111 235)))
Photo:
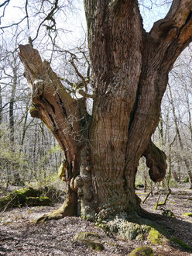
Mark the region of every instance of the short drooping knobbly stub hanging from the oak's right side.
POLYGON ((143 156, 146 157, 146 165, 153 182, 162 181, 166 175, 166 154, 150 141, 143 156))

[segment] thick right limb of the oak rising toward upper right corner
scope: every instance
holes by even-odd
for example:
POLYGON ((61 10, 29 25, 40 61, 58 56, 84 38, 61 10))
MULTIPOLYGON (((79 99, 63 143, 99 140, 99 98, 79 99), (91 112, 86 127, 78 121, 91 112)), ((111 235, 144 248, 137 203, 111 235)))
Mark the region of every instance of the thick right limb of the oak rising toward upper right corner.
POLYGON ((191 8, 191 0, 173 0, 165 19, 155 22, 149 34, 143 33, 142 73, 129 126, 128 162, 135 154, 140 158, 159 123, 160 103, 169 71, 192 40, 191 8), (146 115, 145 120, 143 115, 146 115))

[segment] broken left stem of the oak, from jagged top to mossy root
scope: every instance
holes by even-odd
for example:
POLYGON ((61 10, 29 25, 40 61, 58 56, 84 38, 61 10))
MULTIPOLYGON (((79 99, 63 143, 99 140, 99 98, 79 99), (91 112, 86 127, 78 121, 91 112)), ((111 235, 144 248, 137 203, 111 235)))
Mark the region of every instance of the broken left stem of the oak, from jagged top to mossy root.
MULTIPOLYGON (((63 206, 39 220, 51 220, 74 215, 77 211, 77 189, 73 180, 79 174, 80 152, 84 142, 82 123, 86 119, 84 102, 71 98, 48 61, 42 61, 37 50, 29 44, 19 46, 19 57, 32 88, 32 116, 40 118, 51 130, 65 154, 67 199, 63 206)), ((83 129, 84 128, 84 129, 83 129)), ((38 221, 39 221, 38 220, 38 221)))

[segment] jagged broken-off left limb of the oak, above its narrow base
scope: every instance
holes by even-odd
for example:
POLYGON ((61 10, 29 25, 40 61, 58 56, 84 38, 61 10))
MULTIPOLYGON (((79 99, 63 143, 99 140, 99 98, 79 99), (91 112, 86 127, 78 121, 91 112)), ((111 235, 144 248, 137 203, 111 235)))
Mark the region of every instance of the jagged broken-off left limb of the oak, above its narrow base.
POLYGON ((81 139, 79 131, 82 116, 77 101, 65 91, 50 63, 42 61, 37 50, 30 45, 20 45, 19 49, 19 57, 32 88, 35 116, 46 123, 62 149, 67 152, 67 161, 72 162, 74 155, 77 156, 81 139))

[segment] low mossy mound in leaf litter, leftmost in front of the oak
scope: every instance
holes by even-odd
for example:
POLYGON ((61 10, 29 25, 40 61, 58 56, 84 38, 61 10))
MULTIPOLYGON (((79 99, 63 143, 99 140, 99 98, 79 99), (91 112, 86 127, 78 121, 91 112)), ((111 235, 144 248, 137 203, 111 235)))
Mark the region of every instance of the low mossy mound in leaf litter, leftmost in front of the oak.
POLYGON ((97 241, 97 239, 99 238, 101 237, 97 233, 93 232, 81 232, 74 236, 75 241, 81 241, 83 244, 86 244, 87 247, 90 247, 92 250, 103 251, 105 250, 105 247, 103 244, 97 241))

